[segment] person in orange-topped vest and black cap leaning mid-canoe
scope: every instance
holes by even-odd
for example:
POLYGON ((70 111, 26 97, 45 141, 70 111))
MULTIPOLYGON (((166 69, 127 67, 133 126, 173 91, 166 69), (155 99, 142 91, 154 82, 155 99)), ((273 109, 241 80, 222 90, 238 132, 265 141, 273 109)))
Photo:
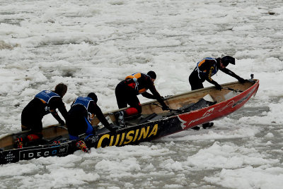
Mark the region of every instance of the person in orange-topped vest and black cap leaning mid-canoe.
POLYGON ((149 99, 157 99, 163 110, 169 109, 154 86, 155 80, 156 73, 154 71, 149 71, 146 74, 134 73, 132 75, 128 75, 125 80, 122 80, 117 85, 115 94, 119 109, 127 107, 127 104, 130 106, 129 109, 119 112, 120 115, 117 117, 120 121, 120 125, 124 125, 124 116, 128 117, 141 114, 141 104, 137 97, 138 94, 149 99), (146 90, 150 90, 152 94, 146 92, 146 90))

